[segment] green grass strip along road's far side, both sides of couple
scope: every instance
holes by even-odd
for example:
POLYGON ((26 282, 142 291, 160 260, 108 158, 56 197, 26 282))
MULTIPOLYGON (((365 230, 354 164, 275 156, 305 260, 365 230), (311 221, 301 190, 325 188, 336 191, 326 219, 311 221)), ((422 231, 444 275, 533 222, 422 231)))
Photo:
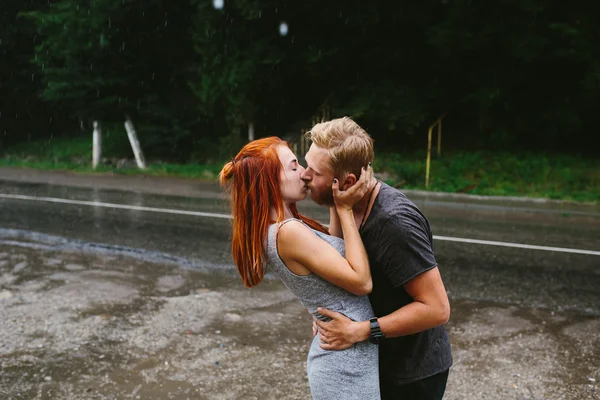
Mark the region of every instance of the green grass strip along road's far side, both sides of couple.
MULTIPOLYGON (((123 156, 124 153, 120 155, 123 156)), ((109 158, 105 165, 93 170, 88 138, 20 144, 5 150, 1 157, 0 166, 203 180, 214 180, 222 166, 221 163, 176 164, 155 161, 148 162, 148 168, 140 171, 127 154, 125 157, 129 159, 109 158)), ((443 154, 432 159, 427 188, 425 154, 422 152, 378 153, 374 168, 385 177, 386 182, 403 189, 573 202, 600 201, 600 161, 570 155, 489 151, 443 154)))

